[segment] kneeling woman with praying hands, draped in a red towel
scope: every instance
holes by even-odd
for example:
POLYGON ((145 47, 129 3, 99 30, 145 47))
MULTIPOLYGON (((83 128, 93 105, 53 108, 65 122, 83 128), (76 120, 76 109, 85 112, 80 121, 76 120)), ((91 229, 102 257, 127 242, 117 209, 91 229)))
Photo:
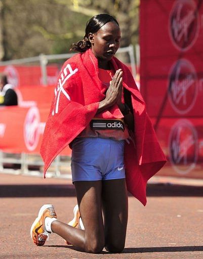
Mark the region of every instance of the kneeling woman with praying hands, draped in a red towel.
POLYGON ((68 59, 58 85, 41 154, 45 172, 67 145, 77 204, 65 224, 52 204, 33 222, 33 242, 44 245, 56 233, 75 248, 121 252, 128 222, 128 190, 146 204, 146 182, 166 162, 128 67, 114 57, 120 44, 118 22, 108 14, 92 17, 79 52, 68 59))

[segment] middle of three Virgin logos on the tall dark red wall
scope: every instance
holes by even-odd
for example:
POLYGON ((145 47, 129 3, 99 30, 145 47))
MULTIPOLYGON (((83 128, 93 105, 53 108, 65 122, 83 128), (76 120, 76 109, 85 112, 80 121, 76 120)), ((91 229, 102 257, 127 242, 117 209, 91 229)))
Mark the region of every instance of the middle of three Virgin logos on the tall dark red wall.
POLYGON ((185 114, 192 109, 198 92, 198 81, 193 65, 185 60, 178 60, 169 76, 169 100, 175 111, 185 114))

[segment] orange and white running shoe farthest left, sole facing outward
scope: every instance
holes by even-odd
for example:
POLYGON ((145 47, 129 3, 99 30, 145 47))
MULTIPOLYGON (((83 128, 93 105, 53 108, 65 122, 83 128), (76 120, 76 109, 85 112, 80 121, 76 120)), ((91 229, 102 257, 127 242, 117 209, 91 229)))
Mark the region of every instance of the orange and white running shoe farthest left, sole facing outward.
POLYGON ((52 204, 45 204, 39 209, 38 217, 33 222, 30 235, 34 243, 38 246, 44 245, 49 234, 45 228, 45 218, 56 218, 56 212, 52 204))

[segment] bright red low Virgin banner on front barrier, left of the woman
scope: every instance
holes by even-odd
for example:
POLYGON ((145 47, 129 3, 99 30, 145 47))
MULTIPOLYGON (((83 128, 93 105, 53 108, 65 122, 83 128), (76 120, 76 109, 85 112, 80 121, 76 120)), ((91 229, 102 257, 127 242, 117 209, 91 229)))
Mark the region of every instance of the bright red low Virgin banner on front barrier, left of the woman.
MULTIPOLYGON (((38 154, 50 108, 1 107, 0 149, 9 153, 38 154)), ((67 147, 62 152, 70 155, 67 147)))

